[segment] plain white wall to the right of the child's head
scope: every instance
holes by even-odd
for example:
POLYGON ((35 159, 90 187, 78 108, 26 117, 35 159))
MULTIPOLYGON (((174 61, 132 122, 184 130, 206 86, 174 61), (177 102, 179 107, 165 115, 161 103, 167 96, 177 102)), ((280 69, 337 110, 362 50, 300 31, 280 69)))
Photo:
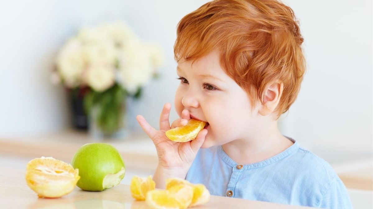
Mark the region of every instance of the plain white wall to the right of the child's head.
POLYGON ((372 1, 286 2, 300 19, 308 69, 283 133, 320 155, 372 156, 372 1))

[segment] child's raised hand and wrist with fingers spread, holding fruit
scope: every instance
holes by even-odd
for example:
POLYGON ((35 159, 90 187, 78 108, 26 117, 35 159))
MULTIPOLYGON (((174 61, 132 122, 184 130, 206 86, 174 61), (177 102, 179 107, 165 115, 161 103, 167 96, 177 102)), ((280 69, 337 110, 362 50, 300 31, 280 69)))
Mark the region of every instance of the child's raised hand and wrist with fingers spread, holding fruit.
POLYGON ((197 138, 192 141, 181 143, 169 140, 165 132, 186 125, 187 120, 190 119, 189 112, 184 110, 181 118, 176 119, 170 127, 170 110, 170 103, 163 106, 159 121, 160 130, 151 127, 141 115, 136 117, 141 128, 153 140, 157 149, 158 166, 153 176, 157 188, 165 188, 167 178, 185 178, 207 134, 207 130, 203 129, 198 133, 197 138))

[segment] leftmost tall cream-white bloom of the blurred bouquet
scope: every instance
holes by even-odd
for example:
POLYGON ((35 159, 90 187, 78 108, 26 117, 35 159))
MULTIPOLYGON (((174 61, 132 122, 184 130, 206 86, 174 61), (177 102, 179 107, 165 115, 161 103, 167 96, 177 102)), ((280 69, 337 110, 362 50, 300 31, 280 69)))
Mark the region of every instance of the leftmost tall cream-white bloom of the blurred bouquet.
POLYGON ((81 42, 71 38, 57 55, 57 72, 66 86, 73 88, 79 85, 85 68, 84 52, 81 42))

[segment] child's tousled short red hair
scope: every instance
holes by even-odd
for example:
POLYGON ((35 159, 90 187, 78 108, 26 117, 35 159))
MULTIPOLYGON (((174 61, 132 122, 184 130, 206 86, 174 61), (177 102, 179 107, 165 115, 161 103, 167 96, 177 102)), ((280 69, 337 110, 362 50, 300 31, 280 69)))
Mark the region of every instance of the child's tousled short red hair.
POLYGON ((220 65, 248 93, 253 107, 263 103, 267 85, 279 79, 279 117, 297 98, 305 73, 298 24, 293 10, 276 0, 214 0, 179 22, 175 60, 195 61, 219 49, 220 65))

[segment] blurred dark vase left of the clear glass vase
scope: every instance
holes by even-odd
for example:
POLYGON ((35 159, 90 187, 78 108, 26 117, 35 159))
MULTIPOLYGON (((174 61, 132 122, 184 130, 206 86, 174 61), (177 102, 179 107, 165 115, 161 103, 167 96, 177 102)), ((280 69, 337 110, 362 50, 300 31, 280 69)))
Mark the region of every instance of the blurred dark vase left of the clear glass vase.
POLYGON ((77 130, 88 130, 88 116, 84 111, 84 95, 88 89, 76 88, 68 89, 69 103, 72 113, 73 128, 77 130))

